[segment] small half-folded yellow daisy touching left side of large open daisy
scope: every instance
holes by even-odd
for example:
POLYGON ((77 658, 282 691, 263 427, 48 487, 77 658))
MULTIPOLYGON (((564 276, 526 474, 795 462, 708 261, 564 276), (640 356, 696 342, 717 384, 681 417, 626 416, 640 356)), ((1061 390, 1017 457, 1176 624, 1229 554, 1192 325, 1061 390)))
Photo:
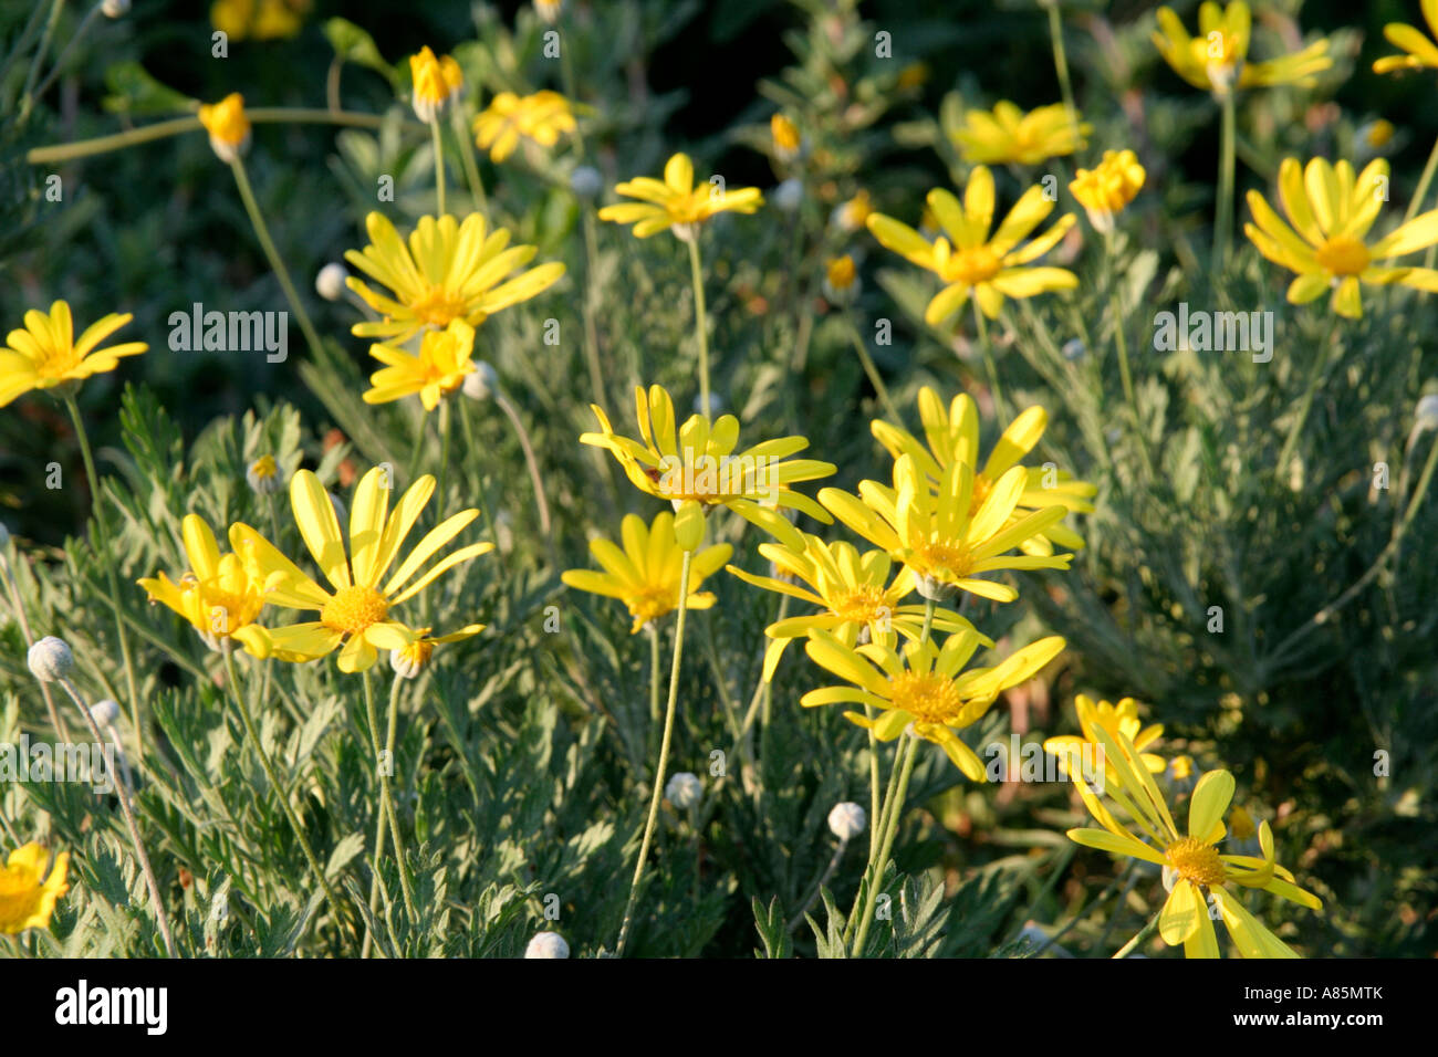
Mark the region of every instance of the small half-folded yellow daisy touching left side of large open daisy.
POLYGON ((269 656, 269 636, 255 621, 265 608, 269 571, 252 552, 220 554, 214 532, 196 513, 181 522, 190 571, 171 581, 164 572, 137 581, 151 603, 162 603, 200 633, 210 649, 237 641, 246 653, 269 656))

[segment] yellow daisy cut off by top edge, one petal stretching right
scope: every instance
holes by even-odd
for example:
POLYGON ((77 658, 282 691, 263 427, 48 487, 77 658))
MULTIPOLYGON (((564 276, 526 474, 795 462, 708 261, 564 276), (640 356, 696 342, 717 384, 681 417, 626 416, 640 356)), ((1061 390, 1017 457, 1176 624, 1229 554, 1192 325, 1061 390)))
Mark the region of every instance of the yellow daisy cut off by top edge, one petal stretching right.
POLYGON ((1235 0, 1219 7, 1206 0, 1198 9, 1198 36, 1191 37, 1183 23, 1168 7, 1159 9, 1160 33, 1153 35, 1159 53, 1194 88, 1227 95, 1234 88, 1263 85, 1313 85, 1314 73, 1333 66, 1329 42, 1316 40, 1301 52, 1268 62, 1248 62, 1252 14, 1248 4, 1235 0))

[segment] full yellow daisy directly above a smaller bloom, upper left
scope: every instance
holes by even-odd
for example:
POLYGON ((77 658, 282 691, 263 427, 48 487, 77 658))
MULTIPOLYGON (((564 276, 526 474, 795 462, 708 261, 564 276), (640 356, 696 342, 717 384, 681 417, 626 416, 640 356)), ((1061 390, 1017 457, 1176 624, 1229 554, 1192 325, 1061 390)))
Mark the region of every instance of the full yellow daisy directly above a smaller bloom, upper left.
POLYGON ((345 260, 390 289, 375 293, 360 276, 345 285, 384 318, 351 328, 357 338, 404 342, 426 326, 444 328, 454 319, 479 326, 495 312, 528 301, 552 286, 564 265, 551 262, 502 282, 528 265, 538 247, 510 246, 509 232, 486 234, 485 217, 470 213, 459 223, 447 213, 439 220, 420 217, 408 246, 381 213, 365 217, 370 244, 345 250, 345 260))

